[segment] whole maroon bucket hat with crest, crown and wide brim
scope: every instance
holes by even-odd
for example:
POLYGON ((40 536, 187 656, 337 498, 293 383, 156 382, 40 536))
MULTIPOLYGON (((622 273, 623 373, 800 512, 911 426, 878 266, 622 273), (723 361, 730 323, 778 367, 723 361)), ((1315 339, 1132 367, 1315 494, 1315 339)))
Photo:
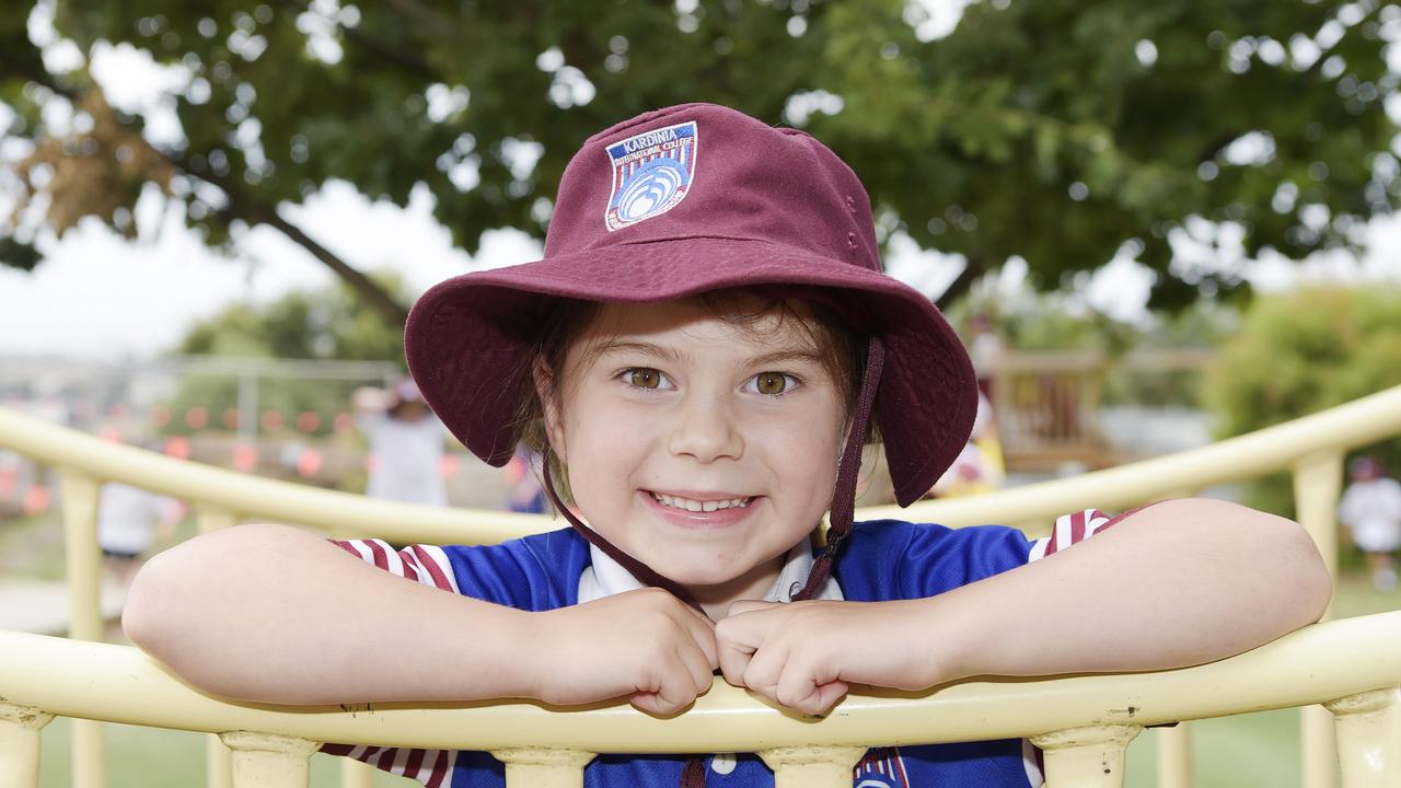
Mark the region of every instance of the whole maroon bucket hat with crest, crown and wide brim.
POLYGON ((430 289, 405 353, 443 423, 503 466, 553 297, 644 303, 775 285, 829 289, 884 345, 873 415, 897 501, 918 501, 972 429, 968 353, 929 299, 881 272, 852 170, 807 133, 734 109, 668 107, 590 137, 565 170, 544 259, 430 289))

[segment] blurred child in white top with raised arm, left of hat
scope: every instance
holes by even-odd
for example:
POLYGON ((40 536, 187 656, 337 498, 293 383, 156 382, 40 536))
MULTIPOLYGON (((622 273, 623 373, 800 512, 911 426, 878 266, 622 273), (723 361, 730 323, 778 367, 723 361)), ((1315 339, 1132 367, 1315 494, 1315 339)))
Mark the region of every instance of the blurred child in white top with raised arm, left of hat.
POLYGON ((447 505, 443 484, 443 423, 412 380, 388 391, 366 387, 352 395, 356 426, 370 442, 366 495, 405 503, 447 505))

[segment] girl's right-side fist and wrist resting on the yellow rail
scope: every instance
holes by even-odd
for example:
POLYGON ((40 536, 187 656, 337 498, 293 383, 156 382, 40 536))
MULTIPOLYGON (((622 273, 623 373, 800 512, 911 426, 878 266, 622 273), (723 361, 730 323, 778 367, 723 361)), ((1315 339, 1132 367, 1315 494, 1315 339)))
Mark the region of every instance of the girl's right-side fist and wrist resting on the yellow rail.
POLYGON ((923 690, 948 680, 920 614, 927 600, 737 602, 716 624, 724 680, 803 714, 848 686, 923 690))

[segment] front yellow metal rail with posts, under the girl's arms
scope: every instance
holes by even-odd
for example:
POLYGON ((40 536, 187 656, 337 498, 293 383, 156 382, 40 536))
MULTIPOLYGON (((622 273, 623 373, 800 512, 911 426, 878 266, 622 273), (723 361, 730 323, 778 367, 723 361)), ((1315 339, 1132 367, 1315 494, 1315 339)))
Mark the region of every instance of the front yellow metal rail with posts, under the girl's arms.
POLYGON ((1324 702, 1339 719, 1348 785, 1380 787, 1395 784, 1393 756, 1401 756, 1401 736, 1394 735, 1401 732, 1398 681, 1401 611, 1318 624, 1181 670, 853 694, 818 724, 719 680, 691 711, 665 721, 628 705, 580 711, 527 702, 374 704, 347 711, 230 704, 189 688, 130 646, 0 632, 0 695, 7 698, 0 705, 0 743, 25 742, 8 753, 0 749, 0 768, 11 770, 0 771, 0 780, 34 784, 13 775, 36 771, 38 729, 56 714, 219 733, 235 753, 282 764, 266 770, 263 781, 235 777, 235 785, 249 787, 304 785, 305 759, 324 740, 490 750, 558 780, 513 787, 579 785, 594 753, 758 752, 779 766, 779 785, 835 788, 850 785, 850 766, 867 745, 1019 736, 1045 749, 1052 787, 1119 785, 1124 749, 1145 726, 1324 702), (1383 763, 1393 771, 1383 773, 1383 763), (829 777, 810 780, 814 767, 829 777))

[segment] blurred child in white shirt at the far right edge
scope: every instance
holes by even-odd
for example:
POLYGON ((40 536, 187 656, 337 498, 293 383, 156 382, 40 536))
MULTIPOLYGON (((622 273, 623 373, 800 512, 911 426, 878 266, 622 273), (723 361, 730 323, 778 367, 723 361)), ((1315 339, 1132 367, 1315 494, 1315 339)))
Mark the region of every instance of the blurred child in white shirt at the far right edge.
POLYGON ((1366 554, 1372 585, 1391 590, 1397 586, 1394 554, 1401 550, 1401 482, 1386 477, 1372 457, 1358 457, 1349 471, 1352 484, 1342 494, 1338 519, 1366 554))

